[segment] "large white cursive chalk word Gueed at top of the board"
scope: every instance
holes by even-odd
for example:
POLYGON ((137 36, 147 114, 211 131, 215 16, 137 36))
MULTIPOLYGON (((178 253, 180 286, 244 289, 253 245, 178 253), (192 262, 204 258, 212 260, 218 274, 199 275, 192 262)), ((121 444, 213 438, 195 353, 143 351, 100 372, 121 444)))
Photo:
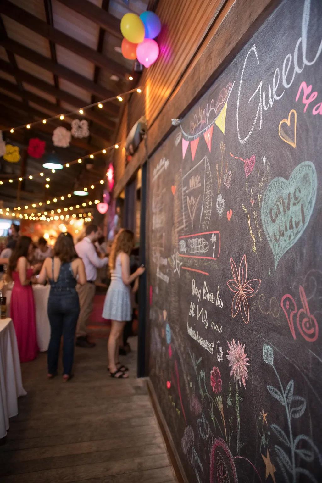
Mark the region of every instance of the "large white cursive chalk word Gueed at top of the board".
MULTIPOLYGON (((240 129, 239 129, 239 101, 240 101, 240 93, 241 93, 241 87, 243 85, 243 76, 244 76, 244 71, 245 69, 247 71, 254 71, 254 68, 249 65, 249 61, 253 57, 253 61, 257 61, 258 66, 260 66, 257 50, 256 50, 256 45, 252 45, 252 47, 249 49, 248 54, 245 58, 244 65, 241 71, 241 76, 240 76, 240 82, 239 82, 239 89, 238 89, 238 98, 237 98, 237 110, 236 110, 236 121, 237 121, 237 134, 238 134, 238 140, 241 145, 245 144, 247 140, 250 138, 252 135, 252 132, 256 126, 257 119, 258 119, 258 114, 260 114, 260 124, 259 124, 259 130, 262 128, 262 121, 263 121, 263 108, 265 111, 267 111, 269 108, 273 107, 274 101, 278 101, 285 93, 285 89, 288 89, 291 87, 291 85, 294 82, 294 78, 296 74, 299 74, 303 71, 305 66, 313 65, 318 57, 321 54, 322 51, 322 41, 320 45, 318 46, 318 49, 316 53, 312 52, 307 52, 307 47, 308 45, 311 47, 312 45, 316 45, 316 43, 312 41, 308 41, 308 31, 309 29, 309 15, 310 15, 310 0, 305 0, 304 1, 304 7, 303 7, 303 15, 302 15, 302 28, 301 28, 301 36, 297 39, 297 42, 294 47, 294 53, 293 53, 293 63, 294 63, 294 70, 292 77, 290 77, 289 70, 291 67, 291 62, 292 62, 292 55, 287 54, 287 56, 284 58, 283 61, 283 67, 281 70, 281 83, 282 86, 279 86, 280 84, 280 69, 277 68, 274 72, 273 79, 272 79, 272 85, 268 85, 268 95, 269 99, 266 104, 266 92, 263 89, 263 80, 260 81, 257 89, 255 92, 252 94, 252 96, 249 98, 250 102, 253 97, 258 95, 258 107, 257 107, 257 112, 255 114, 254 121, 252 123, 252 127, 250 128, 248 134, 245 137, 241 137, 240 134, 240 129), (301 47, 299 49, 299 47, 301 47), (299 52, 301 50, 301 52, 299 52), (255 57, 255 58, 254 58, 255 57), (309 57, 309 58, 308 58, 309 57), (298 65, 299 59, 302 60, 301 65, 298 65), (284 89, 283 89, 284 88, 284 89), (277 90, 280 89, 279 92, 277 90), (283 90, 281 90, 283 89, 283 90)), ((312 47, 311 47, 312 48, 312 47)), ((262 71, 263 68, 260 68, 259 71, 262 71)), ((243 121, 247 119, 247 115, 243 113, 243 121)))

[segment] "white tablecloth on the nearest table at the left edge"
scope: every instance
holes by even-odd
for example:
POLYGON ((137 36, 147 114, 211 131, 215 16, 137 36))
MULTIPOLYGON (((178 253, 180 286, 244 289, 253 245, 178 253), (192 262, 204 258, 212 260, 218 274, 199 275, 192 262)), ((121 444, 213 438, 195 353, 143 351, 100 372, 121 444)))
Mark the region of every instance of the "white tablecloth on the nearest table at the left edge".
POLYGON ((0 438, 7 434, 9 418, 18 414, 17 398, 26 394, 13 321, 0 320, 0 438))

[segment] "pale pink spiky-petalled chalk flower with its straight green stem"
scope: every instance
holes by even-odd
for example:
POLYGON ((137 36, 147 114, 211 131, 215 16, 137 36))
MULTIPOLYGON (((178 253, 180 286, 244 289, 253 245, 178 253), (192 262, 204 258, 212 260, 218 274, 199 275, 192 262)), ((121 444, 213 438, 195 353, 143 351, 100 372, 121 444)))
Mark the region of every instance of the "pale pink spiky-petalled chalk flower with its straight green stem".
POLYGON ((239 395, 238 395, 238 383, 241 387, 241 382, 246 389, 245 379, 248 379, 248 369, 249 358, 245 354, 245 344, 242 346, 241 342, 238 341, 236 344, 235 339, 227 342, 229 349, 227 349, 228 355, 226 355, 229 360, 228 367, 231 367, 230 377, 234 376, 234 382, 236 379, 236 412, 237 412, 237 453, 240 454, 240 415, 239 415, 239 395))

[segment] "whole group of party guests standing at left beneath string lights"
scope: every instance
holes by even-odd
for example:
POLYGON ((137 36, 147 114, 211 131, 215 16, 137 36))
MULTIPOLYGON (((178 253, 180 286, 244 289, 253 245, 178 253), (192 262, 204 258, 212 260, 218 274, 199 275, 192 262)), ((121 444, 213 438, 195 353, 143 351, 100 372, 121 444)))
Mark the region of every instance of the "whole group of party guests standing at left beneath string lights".
POLYGON ((131 273, 133 248, 134 234, 127 229, 119 229, 113 241, 106 243, 101 229, 91 224, 76 244, 70 233, 65 232, 51 249, 44 238, 35 246, 30 237, 19 236, 19 229, 13 225, 6 248, 0 254, 0 264, 5 277, 14 282, 10 316, 21 362, 31 361, 38 354, 32 284, 50 284, 47 377, 52 379, 57 374, 62 339, 63 381, 70 380, 75 344, 84 348, 96 345, 89 340, 87 324, 93 310, 97 270, 105 268, 111 278, 102 313, 104 319, 111 320, 108 370, 113 378, 128 377, 128 368, 119 362, 119 341, 126 323, 132 321, 131 293, 137 291, 139 277, 144 272, 141 266, 131 273))

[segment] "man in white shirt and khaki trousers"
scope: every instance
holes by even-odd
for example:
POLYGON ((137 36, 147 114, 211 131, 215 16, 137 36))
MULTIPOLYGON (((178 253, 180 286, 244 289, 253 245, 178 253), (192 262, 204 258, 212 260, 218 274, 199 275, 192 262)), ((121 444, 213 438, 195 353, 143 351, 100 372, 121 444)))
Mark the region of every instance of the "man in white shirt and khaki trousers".
POLYGON ((86 325, 93 309, 95 296, 95 280, 97 269, 107 265, 107 256, 99 258, 94 243, 102 235, 101 229, 96 225, 88 225, 85 230, 86 236, 75 245, 77 255, 82 258, 85 265, 86 284, 77 285, 81 311, 76 327, 76 345, 79 347, 95 347, 95 343, 88 340, 86 325))

